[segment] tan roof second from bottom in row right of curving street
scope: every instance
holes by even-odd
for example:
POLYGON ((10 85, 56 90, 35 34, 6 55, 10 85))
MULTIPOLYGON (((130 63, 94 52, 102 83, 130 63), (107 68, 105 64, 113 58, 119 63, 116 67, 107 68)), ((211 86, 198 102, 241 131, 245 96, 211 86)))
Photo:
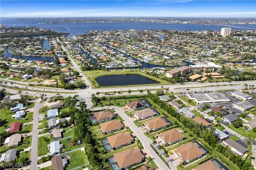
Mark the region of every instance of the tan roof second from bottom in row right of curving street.
POLYGON ((193 142, 184 144, 174 151, 182 160, 192 160, 204 154, 204 152, 198 148, 193 142))

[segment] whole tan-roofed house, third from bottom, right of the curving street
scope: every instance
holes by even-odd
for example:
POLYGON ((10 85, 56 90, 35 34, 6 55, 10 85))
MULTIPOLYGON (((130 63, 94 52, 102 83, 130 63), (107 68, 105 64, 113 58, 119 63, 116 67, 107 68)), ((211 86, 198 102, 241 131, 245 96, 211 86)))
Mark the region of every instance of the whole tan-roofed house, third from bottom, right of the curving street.
POLYGON ((158 136, 157 136, 165 145, 169 144, 175 144, 177 142, 180 142, 182 140, 185 140, 186 137, 179 132, 176 128, 172 128, 170 130, 166 130, 164 132, 161 132, 158 136))

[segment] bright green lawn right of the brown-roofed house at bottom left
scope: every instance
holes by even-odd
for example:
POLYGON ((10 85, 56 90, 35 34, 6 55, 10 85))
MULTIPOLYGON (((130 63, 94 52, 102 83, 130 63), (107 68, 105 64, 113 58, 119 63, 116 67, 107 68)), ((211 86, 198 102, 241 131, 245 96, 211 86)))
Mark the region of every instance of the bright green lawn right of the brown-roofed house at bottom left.
POLYGON ((70 170, 72 168, 76 168, 78 166, 82 166, 84 164, 88 164, 88 158, 85 154, 85 151, 77 150, 75 152, 69 153, 70 160, 68 166, 66 167, 66 170, 70 170))

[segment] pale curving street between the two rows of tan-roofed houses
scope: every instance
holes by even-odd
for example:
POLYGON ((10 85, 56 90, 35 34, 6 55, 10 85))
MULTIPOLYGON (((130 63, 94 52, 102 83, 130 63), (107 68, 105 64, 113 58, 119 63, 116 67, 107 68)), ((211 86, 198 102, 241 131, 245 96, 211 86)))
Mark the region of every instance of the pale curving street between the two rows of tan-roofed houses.
MULTIPOLYGON (((108 107, 106 107, 108 108, 108 107)), ((128 125, 130 125, 130 128, 133 132, 135 132, 138 136, 138 138, 140 138, 143 146, 148 150, 148 152, 150 153, 150 155, 152 156, 152 158, 154 158, 154 162, 156 162, 156 164, 158 164, 158 166, 162 169, 162 170, 168 170, 169 168, 166 166, 166 164, 161 160, 161 158, 156 154, 156 152, 151 148, 150 143, 152 144, 152 140, 148 137, 146 137, 142 131, 140 130, 140 128, 138 128, 133 122, 132 120, 126 115, 126 113, 124 113, 123 109, 120 107, 116 107, 116 106, 110 106, 110 108, 115 109, 120 116, 128 123, 128 125)), ((98 108, 98 109, 102 109, 102 108, 98 108)), ((97 108, 95 108, 95 110, 97 110, 97 108)), ((172 170, 176 170, 176 166, 170 162, 170 168, 172 170)))

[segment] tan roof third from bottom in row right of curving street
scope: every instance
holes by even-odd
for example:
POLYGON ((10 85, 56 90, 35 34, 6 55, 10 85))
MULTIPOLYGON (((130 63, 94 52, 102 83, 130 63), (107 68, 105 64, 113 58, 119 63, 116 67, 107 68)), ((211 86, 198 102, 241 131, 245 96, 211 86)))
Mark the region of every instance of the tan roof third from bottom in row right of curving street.
POLYGON ((159 137, 163 139, 164 142, 172 143, 184 138, 185 136, 181 132, 179 132, 176 128, 172 128, 170 130, 167 130, 159 134, 159 137))

